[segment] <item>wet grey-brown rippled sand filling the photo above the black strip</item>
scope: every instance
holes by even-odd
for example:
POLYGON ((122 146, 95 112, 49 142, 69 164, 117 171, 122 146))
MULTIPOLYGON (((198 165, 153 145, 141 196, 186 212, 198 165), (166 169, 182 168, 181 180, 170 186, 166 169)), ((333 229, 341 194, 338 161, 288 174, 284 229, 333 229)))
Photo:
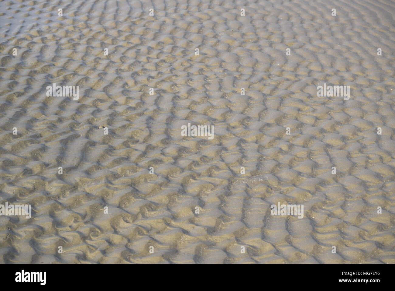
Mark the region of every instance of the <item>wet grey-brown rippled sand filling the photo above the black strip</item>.
POLYGON ((389 0, 1 1, 0 204, 33 215, 0 216, 0 262, 395 263, 394 15, 389 0), (53 83, 79 100, 47 97, 53 83), (317 97, 324 83, 350 99, 317 97), (188 123, 214 139, 182 137, 188 123))

